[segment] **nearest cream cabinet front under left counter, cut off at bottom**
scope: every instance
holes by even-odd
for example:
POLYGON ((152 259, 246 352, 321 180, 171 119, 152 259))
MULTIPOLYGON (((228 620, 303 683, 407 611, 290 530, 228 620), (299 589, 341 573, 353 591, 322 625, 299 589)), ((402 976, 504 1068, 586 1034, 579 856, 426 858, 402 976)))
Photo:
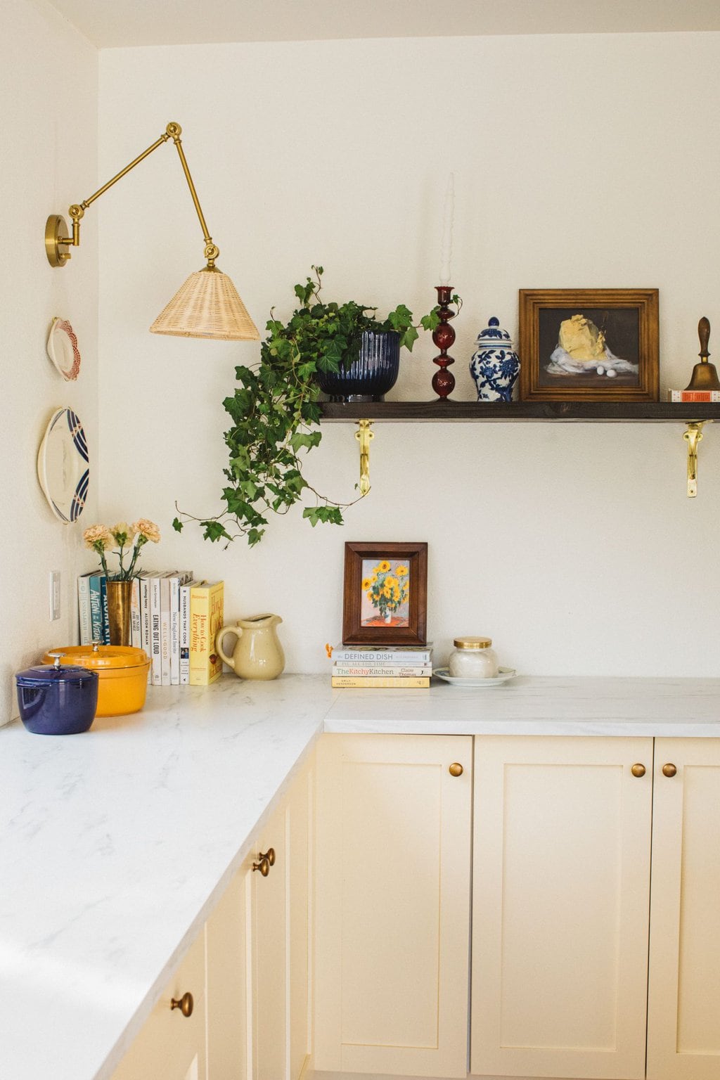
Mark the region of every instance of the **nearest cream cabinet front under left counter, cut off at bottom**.
POLYGON ((112 1080, 205 1080, 205 935, 201 932, 130 1048, 112 1080), (190 1016, 172 1000, 190 993, 190 1016))

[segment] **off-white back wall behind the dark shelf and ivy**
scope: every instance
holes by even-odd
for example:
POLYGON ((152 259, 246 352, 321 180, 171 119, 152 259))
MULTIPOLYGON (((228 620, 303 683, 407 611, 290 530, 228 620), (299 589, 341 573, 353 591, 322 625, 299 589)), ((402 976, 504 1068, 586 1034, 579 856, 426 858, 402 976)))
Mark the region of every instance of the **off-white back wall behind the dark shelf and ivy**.
MULTIPOLYGON (((657 286, 664 396, 688 380, 698 318, 720 335, 719 59, 718 33, 110 50, 100 173, 177 120, 220 266, 262 326, 317 261, 328 297, 427 309, 452 170, 456 396, 474 394, 488 316, 515 330, 518 287, 542 286, 657 286)), ((153 565, 225 578, 229 618, 281 613, 288 670, 327 670, 343 542, 384 538, 430 543, 438 661, 470 633, 524 673, 718 675, 709 426, 696 500, 679 424, 390 424, 344 529, 297 512, 227 551, 173 534, 176 499, 219 507, 221 402, 259 349, 146 332, 203 261, 172 147, 98 216, 103 514, 157 519, 153 565)), ((432 395, 433 353, 405 356, 394 396, 432 395)), ((326 426, 310 477, 342 498, 356 473, 353 428, 326 426)))

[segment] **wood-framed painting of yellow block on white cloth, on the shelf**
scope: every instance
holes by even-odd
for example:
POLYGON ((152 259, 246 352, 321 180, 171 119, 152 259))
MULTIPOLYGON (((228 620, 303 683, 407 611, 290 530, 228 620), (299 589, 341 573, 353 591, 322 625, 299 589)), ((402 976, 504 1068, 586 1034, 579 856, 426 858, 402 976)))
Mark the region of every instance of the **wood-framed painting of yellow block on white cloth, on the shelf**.
POLYGON ((521 288, 520 401, 654 402, 656 288, 521 288))

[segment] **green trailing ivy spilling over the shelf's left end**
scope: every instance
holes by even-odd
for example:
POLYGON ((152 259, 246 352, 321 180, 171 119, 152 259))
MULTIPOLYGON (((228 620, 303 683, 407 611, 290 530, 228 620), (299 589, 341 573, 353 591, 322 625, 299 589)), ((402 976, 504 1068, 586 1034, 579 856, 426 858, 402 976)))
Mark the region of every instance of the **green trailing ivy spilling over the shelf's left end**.
MULTIPOLYGON (((230 460, 223 470, 225 509, 205 519, 182 513, 173 522, 179 532, 188 519, 199 522, 206 540, 227 543, 244 536, 250 546, 264 534, 270 513, 285 514, 304 495, 314 497, 302 516, 312 526, 318 522, 342 525, 342 511, 357 502, 336 502, 305 481, 301 454, 320 445, 320 372, 338 372, 344 356, 359 348, 365 330, 395 330, 400 346, 412 349, 418 327, 433 330, 439 322, 437 308, 423 315, 418 326, 412 312, 400 303, 386 319, 377 309, 348 300, 326 303, 321 299, 323 267, 312 267, 314 278, 295 286, 299 307, 287 323, 274 318, 267 323, 268 336, 254 367, 235 368, 239 383, 223 406, 232 420, 225 433, 230 460)), ((458 297, 453 302, 460 303, 458 297)))

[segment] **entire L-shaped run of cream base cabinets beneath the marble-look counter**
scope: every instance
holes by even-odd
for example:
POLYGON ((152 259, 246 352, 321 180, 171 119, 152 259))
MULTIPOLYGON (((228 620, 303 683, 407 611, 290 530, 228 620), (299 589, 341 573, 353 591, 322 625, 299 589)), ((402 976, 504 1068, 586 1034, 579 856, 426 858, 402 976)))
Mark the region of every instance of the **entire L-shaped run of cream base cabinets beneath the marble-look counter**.
POLYGON ((112 1080, 720 1080, 720 739, 474 743, 324 735, 112 1080))

